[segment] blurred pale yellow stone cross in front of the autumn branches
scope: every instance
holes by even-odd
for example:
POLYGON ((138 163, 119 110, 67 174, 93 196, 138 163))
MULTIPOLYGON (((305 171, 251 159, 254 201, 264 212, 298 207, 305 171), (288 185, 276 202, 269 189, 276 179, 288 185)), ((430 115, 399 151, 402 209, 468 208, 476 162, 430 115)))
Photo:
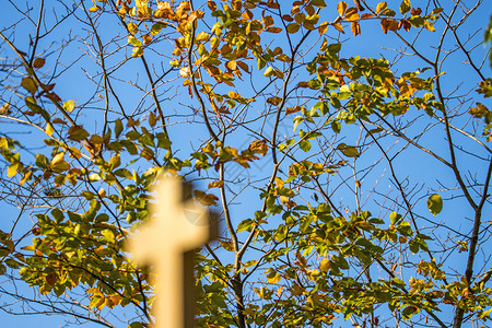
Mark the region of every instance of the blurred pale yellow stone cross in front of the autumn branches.
POLYGON ((191 199, 191 187, 165 177, 154 189, 149 222, 142 224, 130 251, 155 276, 154 328, 195 327, 192 250, 216 238, 216 220, 191 199))

